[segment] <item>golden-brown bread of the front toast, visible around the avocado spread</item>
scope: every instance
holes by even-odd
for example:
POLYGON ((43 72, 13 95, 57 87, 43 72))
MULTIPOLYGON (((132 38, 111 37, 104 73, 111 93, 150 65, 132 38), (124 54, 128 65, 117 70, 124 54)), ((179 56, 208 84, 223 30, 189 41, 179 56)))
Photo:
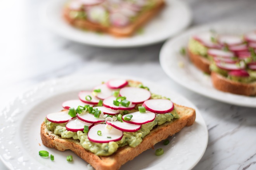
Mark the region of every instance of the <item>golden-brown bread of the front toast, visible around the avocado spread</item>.
POLYGON ((177 104, 175 104, 175 109, 180 116, 179 119, 156 126, 135 148, 123 146, 110 156, 97 156, 83 148, 79 140, 61 138, 53 134, 51 131, 48 131, 44 122, 41 125, 42 143, 48 148, 55 148, 60 151, 72 150, 76 155, 90 163, 96 170, 117 170, 121 165, 132 160, 143 151, 153 148, 156 143, 179 132, 185 126, 191 126, 194 123, 194 109, 177 104))

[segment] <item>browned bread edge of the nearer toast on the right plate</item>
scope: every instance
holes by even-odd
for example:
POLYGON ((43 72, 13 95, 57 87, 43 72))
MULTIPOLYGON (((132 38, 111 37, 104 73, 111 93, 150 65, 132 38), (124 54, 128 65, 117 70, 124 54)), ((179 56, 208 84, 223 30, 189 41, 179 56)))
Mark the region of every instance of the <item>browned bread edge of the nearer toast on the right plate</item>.
POLYGON ((232 80, 228 80, 224 76, 212 71, 211 81, 213 86, 223 92, 229 92, 239 95, 255 96, 256 95, 256 83, 240 83, 232 80))

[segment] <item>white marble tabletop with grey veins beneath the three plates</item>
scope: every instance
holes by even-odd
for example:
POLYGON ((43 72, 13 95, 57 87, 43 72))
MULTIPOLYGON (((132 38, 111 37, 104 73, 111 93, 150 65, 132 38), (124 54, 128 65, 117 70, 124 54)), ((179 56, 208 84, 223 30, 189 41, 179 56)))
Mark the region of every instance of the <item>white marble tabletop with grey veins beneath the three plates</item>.
MULTIPOLYGON (((193 25, 232 20, 256 23, 255 0, 184 0, 194 13, 193 25)), ((39 20, 46 1, 0 2, 0 109, 39 82, 70 74, 120 73, 170 87, 201 111, 209 142, 195 170, 256 169, 256 109, 217 102, 180 87, 163 72, 162 44, 132 49, 85 46, 47 31, 39 20)), ((7 170, 2 162, 0 169, 7 170)))

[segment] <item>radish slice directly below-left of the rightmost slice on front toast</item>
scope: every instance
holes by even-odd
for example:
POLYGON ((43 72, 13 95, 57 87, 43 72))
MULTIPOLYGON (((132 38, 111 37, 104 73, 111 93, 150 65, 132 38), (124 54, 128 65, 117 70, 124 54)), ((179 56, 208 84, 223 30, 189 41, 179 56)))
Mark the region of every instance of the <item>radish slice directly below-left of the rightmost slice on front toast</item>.
POLYGON ((123 121, 130 123, 130 124, 137 124, 137 125, 146 124, 146 123, 154 121, 156 118, 155 113, 147 111, 147 110, 145 113, 133 112, 133 113, 129 113, 129 114, 124 115, 122 118, 123 118, 123 121), (131 120, 125 121, 124 120, 125 116, 127 116, 129 114, 132 115, 131 120))

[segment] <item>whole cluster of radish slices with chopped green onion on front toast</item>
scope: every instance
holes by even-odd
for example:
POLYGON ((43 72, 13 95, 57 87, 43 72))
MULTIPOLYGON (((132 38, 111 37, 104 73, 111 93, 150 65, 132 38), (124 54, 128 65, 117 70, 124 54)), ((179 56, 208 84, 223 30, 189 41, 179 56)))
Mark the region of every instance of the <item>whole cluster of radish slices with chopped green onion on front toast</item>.
POLYGON ((84 131, 92 142, 108 143, 119 141, 123 132, 140 130, 143 124, 154 121, 156 114, 173 110, 170 100, 150 99, 151 93, 147 88, 127 85, 126 80, 114 79, 92 91, 81 91, 80 100, 63 102, 62 107, 69 110, 48 114, 47 120, 66 123, 67 131, 84 131), (114 92, 118 92, 117 95, 114 92), (142 106, 138 106, 139 111, 132 111, 136 104, 142 106), (120 114, 120 110, 125 111, 120 114))

